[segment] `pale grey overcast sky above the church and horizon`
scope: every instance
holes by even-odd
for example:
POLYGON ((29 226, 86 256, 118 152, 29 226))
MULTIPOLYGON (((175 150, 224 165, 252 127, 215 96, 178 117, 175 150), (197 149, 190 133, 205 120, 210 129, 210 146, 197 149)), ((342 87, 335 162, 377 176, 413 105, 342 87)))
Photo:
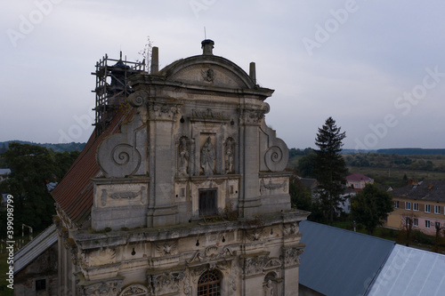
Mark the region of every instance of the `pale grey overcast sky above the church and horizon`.
POLYGON ((9 1, 2 31, 0 141, 86 141, 108 53, 160 68, 214 54, 274 89, 266 123, 289 148, 314 148, 328 116, 344 148, 445 148, 443 1, 9 1))

